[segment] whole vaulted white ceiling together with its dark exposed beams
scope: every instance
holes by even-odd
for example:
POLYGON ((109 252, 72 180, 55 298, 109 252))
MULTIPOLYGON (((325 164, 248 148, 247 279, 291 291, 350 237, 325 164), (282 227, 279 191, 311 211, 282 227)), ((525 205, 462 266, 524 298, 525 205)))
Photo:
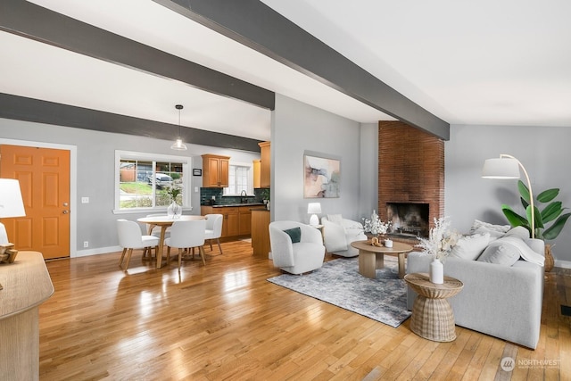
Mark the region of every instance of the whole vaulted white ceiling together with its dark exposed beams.
MULTIPOLYGON (((0 5, 0 93, 152 120, 158 126, 178 124, 174 105, 184 104, 185 127, 258 140, 269 139, 272 93, 360 122, 410 118, 419 125, 428 120, 435 127, 427 129, 436 134, 449 123, 571 126, 567 1, 244 0, 234 10, 233 3, 241 2, 228 0, 225 7, 224 1, 212 0, 218 13, 228 9, 216 19, 208 17, 208 9, 201 11, 210 6, 206 0, 5 0, 0 5), (45 31, 43 37, 34 35, 41 22, 11 30, 7 11, 20 4, 62 13, 62 23, 54 25, 60 33, 70 18, 103 34, 76 36, 70 24, 65 44, 81 47, 70 48, 45 31), (284 44, 265 46, 260 30, 266 28, 268 35, 281 30, 277 19, 264 24, 266 19, 246 20, 248 14, 240 12, 264 4, 317 37, 324 49, 338 52, 335 60, 346 58, 362 71, 350 68, 346 78, 333 72, 335 60, 320 62, 330 52, 319 49, 291 46, 291 52, 276 54, 284 44), (234 19, 243 33, 225 32, 224 22, 234 19), (251 25, 253 37, 248 35, 251 25), (109 32, 126 37, 124 57, 101 53, 107 39, 96 37, 109 32), (179 66, 172 64, 176 60, 179 66), (311 61, 320 67, 304 66, 311 61), (187 66, 192 64, 214 71, 199 75, 202 71, 187 66), (213 81, 224 88, 202 86, 201 79, 219 74, 223 77, 213 81), (192 75, 197 78, 188 80, 192 75)), ((28 14, 22 20, 27 17, 34 20, 28 14)), ((120 44, 113 43, 115 54, 120 44)))

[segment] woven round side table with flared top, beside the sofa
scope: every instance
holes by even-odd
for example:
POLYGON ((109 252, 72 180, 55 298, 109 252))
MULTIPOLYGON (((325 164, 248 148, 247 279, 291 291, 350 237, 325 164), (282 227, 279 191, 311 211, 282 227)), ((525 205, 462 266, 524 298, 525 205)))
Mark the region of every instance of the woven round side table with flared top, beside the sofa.
POLYGON ((436 285, 426 273, 407 274, 404 280, 418 294, 412 307, 410 330, 435 342, 454 341, 454 312, 446 299, 458 294, 464 284, 456 278, 444 277, 444 283, 436 285))

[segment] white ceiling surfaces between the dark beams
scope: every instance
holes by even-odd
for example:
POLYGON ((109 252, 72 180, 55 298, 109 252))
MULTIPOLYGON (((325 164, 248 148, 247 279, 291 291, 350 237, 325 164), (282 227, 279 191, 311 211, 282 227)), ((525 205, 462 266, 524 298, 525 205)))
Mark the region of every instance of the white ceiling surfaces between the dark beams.
MULTIPOLYGON (((262 1, 451 124, 571 127, 567 0, 262 1)), ((392 120, 151 0, 31 2, 351 120, 392 120)), ((269 139, 258 106, 4 32, 0 46, 0 92, 173 124, 184 104, 183 126, 269 139)))

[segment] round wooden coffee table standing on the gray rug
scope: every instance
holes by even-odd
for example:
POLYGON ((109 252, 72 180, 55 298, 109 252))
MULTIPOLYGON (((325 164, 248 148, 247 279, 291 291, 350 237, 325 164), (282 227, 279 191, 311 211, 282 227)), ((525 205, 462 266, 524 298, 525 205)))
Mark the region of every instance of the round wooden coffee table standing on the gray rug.
POLYGON ((385 254, 399 258, 399 278, 404 277, 404 258, 412 251, 410 244, 393 242, 393 247, 373 246, 370 241, 355 241, 352 247, 359 250, 359 273, 363 277, 375 279, 376 270, 385 267, 385 254))

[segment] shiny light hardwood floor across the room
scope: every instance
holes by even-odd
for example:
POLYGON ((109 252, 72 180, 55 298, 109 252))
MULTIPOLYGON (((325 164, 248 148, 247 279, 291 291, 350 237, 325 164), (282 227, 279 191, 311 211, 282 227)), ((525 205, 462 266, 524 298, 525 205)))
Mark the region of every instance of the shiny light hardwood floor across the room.
POLYGON ((571 305, 569 270, 546 276, 532 351, 462 327, 456 341, 434 343, 411 333, 410 319, 385 326, 269 283, 279 271, 247 242, 223 251, 206 249, 206 267, 185 261, 180 275, 176 258, 157 270, 140 253, 127 272, 120 253, 48 261, 55 294, 40 307, 40 379, 571 377, 570 319, 560 315, 560 304, 571 305), (511 373, 501 370, 506 356, 519 364, 511 373))

